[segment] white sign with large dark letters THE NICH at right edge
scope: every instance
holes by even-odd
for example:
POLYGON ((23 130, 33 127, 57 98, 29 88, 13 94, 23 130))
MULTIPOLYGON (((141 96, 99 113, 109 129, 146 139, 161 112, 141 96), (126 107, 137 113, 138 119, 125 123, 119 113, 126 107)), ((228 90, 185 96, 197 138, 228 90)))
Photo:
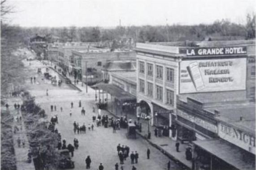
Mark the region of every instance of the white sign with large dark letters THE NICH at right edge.
POLYGON ((219 123, 218 127, 220 138, 255 154, 255 136, 234 127, 226 126, 223 123, 219 123))

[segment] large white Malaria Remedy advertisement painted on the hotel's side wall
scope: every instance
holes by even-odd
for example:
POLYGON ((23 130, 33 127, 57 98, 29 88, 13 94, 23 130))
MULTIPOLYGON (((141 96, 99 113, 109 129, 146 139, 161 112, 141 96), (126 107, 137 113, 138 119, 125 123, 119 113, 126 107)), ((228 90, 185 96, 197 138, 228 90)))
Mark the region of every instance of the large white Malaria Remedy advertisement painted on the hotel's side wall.
POLYGON ((180 64, 180 93, 245 88, 246 58, 189 60, 180 64))

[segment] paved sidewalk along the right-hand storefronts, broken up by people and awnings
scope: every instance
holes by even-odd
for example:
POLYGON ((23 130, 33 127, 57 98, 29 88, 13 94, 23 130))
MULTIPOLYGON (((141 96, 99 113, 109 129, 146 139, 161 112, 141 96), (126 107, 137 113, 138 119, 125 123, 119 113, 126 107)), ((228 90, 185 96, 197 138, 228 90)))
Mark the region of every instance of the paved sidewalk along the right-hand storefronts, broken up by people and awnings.
MULTIPOLYGON (((54 64, 52 64, 53 66, 49 66, 51 67, 53 70, 54 69, 54 64)), ((57 70, 60 67, 56 65, 56 72, 58 72, 57 70)), ((63 76, 60 72, 58 72, 61 76, 63 76)), ((80 89, 82 92, 86 92, 86 85, 79 82, 78 84, 74 84, 74 77, 73 76, 66 76, 67 78, 69 78, 69 80, 72 82, 72 85, 76 86, 78 89, 80 89)), ((88 86, 88 92, 94 91, 94 89, 92 89, 91 87, 88 86)), ((102 110, 101 111, 102 115, 111 115, 114 117, 117 116, 121 116, 121 115, 115 115, 113 113, 111 113, 108 110, 102 110)), ((136 115, 128 115, 129 119, 132 120, 136 120, 136 115)), ((139 123, 142 123, 142 132, 139 132, 138 130, 136 131, 137 134, 139 134, 140 136, 142 136, 145 140, 147 140, 152 146, 154 146, 155 148, 161 150, 161 152, 165 155, 167 155, 169 158, 171 158, 172 160, 174 160, 177 164, 180 164, 181 166, 184 167, 184 169, 192 169, 192 161, 187 161, 186 160, 186 155, 185 155, 185 151, 187 148, 187 144, 180 144, 179 147, 179 151, 180 152, 176 152, 176 141, 171 140, 169 137, 166 136, 162 136, 162 137, 156 137, 154 136, 154 129, 155 127, 149 126, 149 130, 151 132, 151 139, 147 139, 147 134, 148 134, 148 120, 140 120, 139 123)))

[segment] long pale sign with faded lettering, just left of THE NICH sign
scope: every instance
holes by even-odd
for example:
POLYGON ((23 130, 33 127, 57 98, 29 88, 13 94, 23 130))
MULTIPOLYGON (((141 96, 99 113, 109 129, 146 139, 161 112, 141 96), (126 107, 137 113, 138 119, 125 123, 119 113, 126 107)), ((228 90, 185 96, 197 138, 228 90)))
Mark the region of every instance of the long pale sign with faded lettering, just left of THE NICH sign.
POLYGON ((203 119, 200 119, 198 117, 189 115, 181 110, 177 110, 177 115, 181 116, 184 119, 187 119, 195 124, 197 124, 198 126, 204 127, 205 129, 207 129, 208 131, 217 133, 217 126, 215 126, 212 123, 208 123, 206 121, 204 121, 203 119))

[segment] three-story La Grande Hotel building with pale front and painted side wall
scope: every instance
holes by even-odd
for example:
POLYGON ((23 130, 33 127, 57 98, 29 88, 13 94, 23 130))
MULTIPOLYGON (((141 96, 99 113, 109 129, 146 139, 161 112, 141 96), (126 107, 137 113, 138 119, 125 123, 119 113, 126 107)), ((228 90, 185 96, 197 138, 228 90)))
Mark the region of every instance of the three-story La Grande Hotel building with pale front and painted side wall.
MULTIPOLYGON (((251 66, 247 64, 248 56, 255 57, 252 52, 255 48, 248 47, 253 42, 249 45, 224 42, 222 46, 219 42, 211 43, 207 43, 210 47, 205 44, 203 47, 179 47, 137 43, 134 49, 137 54, 137 102, 144 105, 138 114, 150 115, 152 125, 168 125, 172 136, 175 133, 171 130, 172 125, 178 114, 177 95, 243 91, 248 99, 248 86, 255 88, 255 62, 251 61, 251 66), (252 72, 250 78, 248 70, 252 72)), ((209 117, 208 121, 207 124, 213 123, 216 130, 216 120, 209 117)))

